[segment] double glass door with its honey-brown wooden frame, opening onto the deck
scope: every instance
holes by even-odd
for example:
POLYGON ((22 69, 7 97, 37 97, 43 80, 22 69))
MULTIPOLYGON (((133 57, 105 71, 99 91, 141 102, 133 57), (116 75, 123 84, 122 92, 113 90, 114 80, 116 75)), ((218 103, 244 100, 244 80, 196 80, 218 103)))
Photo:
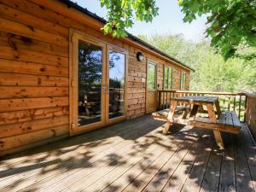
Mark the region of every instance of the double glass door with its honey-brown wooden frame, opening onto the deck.
POLYGON ((72 52, 73 134, 124 119, 127 52, 77 33, 72 52))

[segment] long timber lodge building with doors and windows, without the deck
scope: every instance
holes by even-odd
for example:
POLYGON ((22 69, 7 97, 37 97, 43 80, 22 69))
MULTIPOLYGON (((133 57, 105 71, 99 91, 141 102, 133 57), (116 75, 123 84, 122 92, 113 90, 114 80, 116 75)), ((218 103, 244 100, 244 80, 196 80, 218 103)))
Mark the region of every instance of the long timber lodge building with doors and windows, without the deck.
POLYGON ((67 0, 0 1, 1 155, 154 112, 164 87, 189 90, 189 67, 103 25, 67 0))

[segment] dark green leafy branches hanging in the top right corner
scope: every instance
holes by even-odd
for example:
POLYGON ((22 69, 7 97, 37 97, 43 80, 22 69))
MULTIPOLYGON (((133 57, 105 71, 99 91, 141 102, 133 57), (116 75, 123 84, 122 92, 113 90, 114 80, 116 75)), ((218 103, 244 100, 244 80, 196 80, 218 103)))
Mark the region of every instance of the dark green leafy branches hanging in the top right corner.
POLYGON ((191 22, 196 15, 207 14, 207 36, 212 46, 227 59, 235 55, 239 44, 256 46, 256 0, 179 0, 191 22))

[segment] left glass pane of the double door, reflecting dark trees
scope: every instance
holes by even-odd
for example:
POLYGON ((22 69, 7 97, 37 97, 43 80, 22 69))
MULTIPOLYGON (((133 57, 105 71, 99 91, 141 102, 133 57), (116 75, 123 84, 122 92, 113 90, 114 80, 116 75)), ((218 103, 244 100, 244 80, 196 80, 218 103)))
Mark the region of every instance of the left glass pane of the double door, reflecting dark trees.
POLYGON ((79 41, 78 125, 101 121, 102 48, 79 41))

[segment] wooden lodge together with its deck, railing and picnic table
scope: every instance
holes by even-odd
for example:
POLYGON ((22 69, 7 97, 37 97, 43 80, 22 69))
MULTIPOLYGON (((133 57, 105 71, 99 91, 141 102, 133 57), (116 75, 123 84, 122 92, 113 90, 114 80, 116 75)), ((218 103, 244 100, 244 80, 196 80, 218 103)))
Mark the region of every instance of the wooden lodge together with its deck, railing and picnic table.
POLYGON ((0 192, 256 192, 256 96, 189 91, 193 69, 104 23, 0 0, 0 192))

